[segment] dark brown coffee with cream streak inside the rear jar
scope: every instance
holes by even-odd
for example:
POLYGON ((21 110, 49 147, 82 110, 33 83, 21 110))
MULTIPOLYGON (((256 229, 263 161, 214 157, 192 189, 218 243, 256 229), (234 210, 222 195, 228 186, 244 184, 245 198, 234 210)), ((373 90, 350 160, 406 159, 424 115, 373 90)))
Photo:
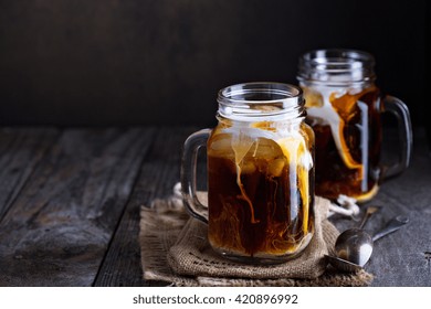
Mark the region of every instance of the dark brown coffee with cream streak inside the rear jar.
POLYGON ((316 136, 316 194, 369 200, 377 192, 381 172, 378 88, 371 86, 340 96, 328 90, 327 97, 309 89, 304 93, 311 115, 307 122, 316 136), (338 118, 328 117, 319 100, 329 102, 338 118))

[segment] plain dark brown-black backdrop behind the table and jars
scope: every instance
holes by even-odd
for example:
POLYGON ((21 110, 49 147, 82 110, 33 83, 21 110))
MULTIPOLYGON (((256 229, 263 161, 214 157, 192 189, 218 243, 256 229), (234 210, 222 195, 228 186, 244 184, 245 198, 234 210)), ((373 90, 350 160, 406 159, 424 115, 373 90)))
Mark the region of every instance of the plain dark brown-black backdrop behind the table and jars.
POLYGON ((0 0, 0 125, 211 126, 221 87, 295 84, 298 56, 320 47, 372 53, 378 86, 422 125, 425 6, 0 0))

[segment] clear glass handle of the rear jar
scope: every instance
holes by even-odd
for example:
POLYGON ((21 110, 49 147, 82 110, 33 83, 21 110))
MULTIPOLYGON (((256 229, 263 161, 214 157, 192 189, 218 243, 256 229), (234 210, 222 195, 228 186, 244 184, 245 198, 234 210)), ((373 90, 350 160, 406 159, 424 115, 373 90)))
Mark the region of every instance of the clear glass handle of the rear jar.
POLYGON ((409 167, 413 148, 413 131, 409 108, 402 100, 387 95, 383 98, 382 110, 383 113, 390 113, 396 116, 401 145, 400 160, 391 166, 383 167, 382 178, 387 179, 401 173, 409 167))

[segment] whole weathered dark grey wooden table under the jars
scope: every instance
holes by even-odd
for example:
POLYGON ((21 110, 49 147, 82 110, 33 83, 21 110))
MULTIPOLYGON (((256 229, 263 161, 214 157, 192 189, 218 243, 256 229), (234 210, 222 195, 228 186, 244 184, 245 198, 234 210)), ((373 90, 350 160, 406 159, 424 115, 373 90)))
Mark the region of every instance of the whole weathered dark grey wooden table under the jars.
MULTIPOLYGON (((139 209, 171 194, 197 128, 1 128, 0 286, 146 286, 139 209)), ((381 187, 367 224, 410 224, 376 243, 374 286, 431 286, 431 158, 414 129, 410 168, 381 187)), ((356 224, 336 220, 339 228, 356 224)))

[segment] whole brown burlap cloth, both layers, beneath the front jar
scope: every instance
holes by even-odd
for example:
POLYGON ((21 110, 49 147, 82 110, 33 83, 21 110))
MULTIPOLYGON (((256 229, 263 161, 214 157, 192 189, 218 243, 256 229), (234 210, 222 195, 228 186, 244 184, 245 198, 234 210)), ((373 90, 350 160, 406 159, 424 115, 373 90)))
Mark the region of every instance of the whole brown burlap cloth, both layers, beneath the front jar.
MULTIPOLYGON (((199 192, 206 203, 207 194, 199 192)), ((339 273, 327 266, 339 232, 327 220, 330 202, 316 196, 315 234, 298 257, 270 266, 244 265, 214 253, 207 225, 190 217, 180 196, 155 200, 140 212, 144 279, 172 286, 368 286, 372 275, 339 273)))

